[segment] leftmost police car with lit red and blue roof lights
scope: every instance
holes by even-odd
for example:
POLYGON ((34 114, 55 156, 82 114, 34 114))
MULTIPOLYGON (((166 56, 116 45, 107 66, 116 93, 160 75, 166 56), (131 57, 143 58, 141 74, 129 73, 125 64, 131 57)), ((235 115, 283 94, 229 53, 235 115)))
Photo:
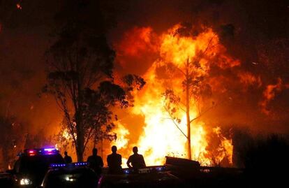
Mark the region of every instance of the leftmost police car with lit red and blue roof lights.
POLYGON ((19 154, 13 170, 8 173, 13 175, 14 187, 38 187, 52 163, 64 163, 54 147, 27 149, 19 154))

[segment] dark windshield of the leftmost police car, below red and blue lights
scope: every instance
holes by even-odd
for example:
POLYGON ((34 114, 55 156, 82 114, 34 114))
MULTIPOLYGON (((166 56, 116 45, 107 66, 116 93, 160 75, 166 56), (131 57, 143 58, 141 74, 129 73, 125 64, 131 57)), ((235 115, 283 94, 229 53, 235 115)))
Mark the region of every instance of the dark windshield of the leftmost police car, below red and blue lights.
POLYGON ((20 172, 43 172, 47 171, 50 164, 63 162, 64 159, 60 154, 23 156, 20 163, 20 172))

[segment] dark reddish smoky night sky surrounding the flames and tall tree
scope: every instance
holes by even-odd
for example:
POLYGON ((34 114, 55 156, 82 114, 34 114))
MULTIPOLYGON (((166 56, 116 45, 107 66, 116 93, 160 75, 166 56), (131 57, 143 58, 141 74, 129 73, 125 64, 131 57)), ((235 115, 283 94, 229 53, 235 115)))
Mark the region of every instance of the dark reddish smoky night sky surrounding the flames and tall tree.
MULTIPOLYGON (((55 123, 52 114, 57 113, 57 109, 53 99, 39 99, 37 93, 45 82, 44 52, 52 43, 50 33, 54 28, 54 15, 61 4, 58 0, 0 0, 1 114, 8 112, 33 126, 55 123), (21 10, 16 7, 18 2, 21 10)), ((114 0, 105 1, 103 6, 117 22, 108 33, 112 45, 121 41, 124 32, 133 27, 150 26, 156 33, 161 33, 179 22, 193 22, 221 32, 222 25, 232 24, 234 33, 222 42, 233 57, 241 60, 243 70, 260 75, 263 81, 261 88, 249 90, 245 100, 248 104, 239 101, 238 112, 244 115, 258 111, 254 109, 258 106, 256 100, 266 85, 275 84, 277 78, 289 83, 289 1, 114 0), (285 45, 280 45, 283 43, 285 45), (266 64, 260 61, 260 48, 265 49, 272 61, 266 64), (277 53, 272 53, 272 49, 277 49, 277 53), (258 65, 252 62, 258 62, 258 65)), ((279 114, 277 118, 273 120, 258 113, 255 123, 267 121, 268 128, 272 128, 269 124, 274 124, 277 129, 288 131, 288 94, 284 89, 272 101, 272 108, 279 114)), ((249 121, 249 124, 253 122, 249 121)))

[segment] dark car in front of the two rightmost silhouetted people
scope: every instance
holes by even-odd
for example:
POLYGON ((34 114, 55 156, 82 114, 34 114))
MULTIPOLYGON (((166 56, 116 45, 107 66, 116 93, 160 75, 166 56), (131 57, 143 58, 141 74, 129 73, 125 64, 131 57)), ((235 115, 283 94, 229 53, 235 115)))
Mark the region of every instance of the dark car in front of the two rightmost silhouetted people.
POLYGON ((166 166, 148 166, 138 170, 124 168, 121 174, 103 173, 98 188, 108 187, 184 187, 166 166))

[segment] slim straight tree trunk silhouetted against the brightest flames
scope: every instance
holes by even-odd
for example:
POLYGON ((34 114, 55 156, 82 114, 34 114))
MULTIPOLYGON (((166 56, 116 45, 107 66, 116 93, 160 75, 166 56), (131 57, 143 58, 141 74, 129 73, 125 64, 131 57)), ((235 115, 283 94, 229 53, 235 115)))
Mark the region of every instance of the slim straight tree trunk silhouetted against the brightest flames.
POLYGON ((191 120, 190 120, 190 85, 188 82, 188 60, 186 63, 186 126, 187 126, 187 152, 188 159, 192 159, 191 155, 191 120))

